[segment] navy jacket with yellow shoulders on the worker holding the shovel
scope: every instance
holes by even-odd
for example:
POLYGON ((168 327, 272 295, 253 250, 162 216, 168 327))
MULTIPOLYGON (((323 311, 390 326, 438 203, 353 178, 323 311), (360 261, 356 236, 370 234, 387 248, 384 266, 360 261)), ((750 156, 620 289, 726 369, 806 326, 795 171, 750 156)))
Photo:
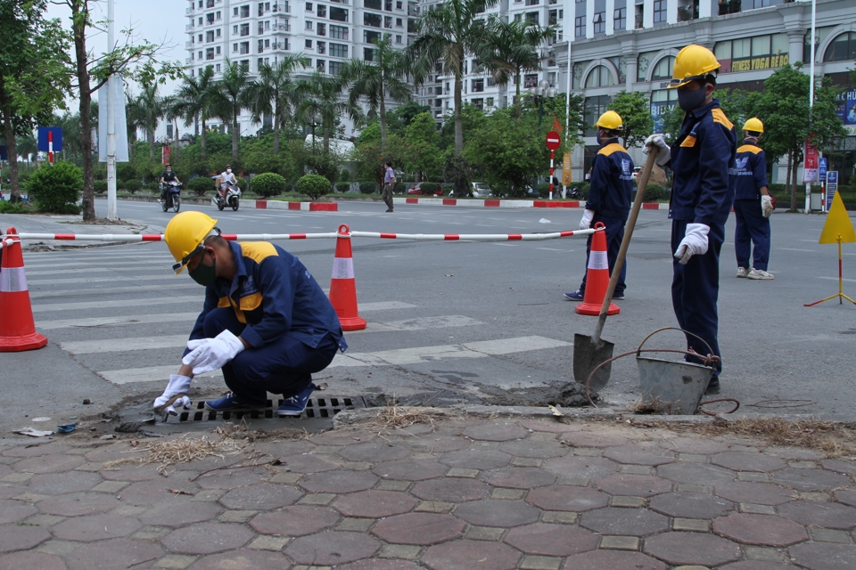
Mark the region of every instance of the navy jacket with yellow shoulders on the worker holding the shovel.
POLYGON ((737 182, 734 125, 714 99, 687 113, 671 147, 674 172, 669 217, 694 224, 725 224, 737 182))

